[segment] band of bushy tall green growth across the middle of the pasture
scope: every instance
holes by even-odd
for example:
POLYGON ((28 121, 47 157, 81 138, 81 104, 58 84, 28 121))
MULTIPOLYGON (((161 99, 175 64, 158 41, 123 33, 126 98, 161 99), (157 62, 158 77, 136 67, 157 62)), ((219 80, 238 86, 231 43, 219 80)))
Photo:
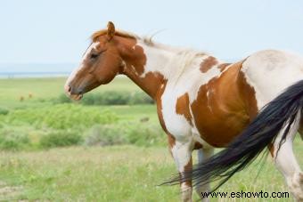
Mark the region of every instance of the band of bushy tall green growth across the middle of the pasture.
MULTIPOLYGON (((129 114, 129 113, 128 113, 129 114)), ((122 119, 111 109, 80 104, 46 105, 14 109, 0 115, 0 149, 44 149, 85 144, 108 146, 135 144, 164 145, 159 124, 122 119)))

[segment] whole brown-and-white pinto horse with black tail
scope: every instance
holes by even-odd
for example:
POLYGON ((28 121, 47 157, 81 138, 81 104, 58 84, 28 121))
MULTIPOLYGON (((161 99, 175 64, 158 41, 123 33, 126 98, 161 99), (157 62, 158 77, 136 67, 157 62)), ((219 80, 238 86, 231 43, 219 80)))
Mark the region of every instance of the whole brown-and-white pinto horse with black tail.
POLYGON ((303 132, 302 58, 267 50, 230 64, 116 31, 109 22, 93 34, 65 91, 80 100, 119 74, 157 103, 179 172, 171 182, 181 184, 183 201, 192 201, 192 185, 200 195, 209 191, 209 182, 219 180, 220 186, 265 149, 294 198, 303 200, 303 173, 292 151, 296 133, 303 132), (199 158, 194 168, 193 149, 199 158))

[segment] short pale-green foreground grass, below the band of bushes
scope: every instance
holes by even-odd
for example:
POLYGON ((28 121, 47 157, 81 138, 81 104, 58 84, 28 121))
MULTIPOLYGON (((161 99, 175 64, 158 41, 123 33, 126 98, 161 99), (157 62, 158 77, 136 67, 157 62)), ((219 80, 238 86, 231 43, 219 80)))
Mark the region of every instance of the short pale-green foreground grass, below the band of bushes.
MULTIPOLYGON (((295 149, 301 154, 303 148, 299 145, 296 140, 295 149)), ((303 159, 299 160, 302 165, 303 159)), ((176 174, 175 164, 166 148, 112 146, 2 152, 0 162, 1 181, 11 187, 20 187, 18 191, 0 196, 0 200, 164 202, 178 201, 180 197, 178 186, 157 186, 171 174, 176 174)), ((270 158, 259 175, 258 169, 256 161, 220 190, 263 190, 269 193, 288 190, 270 158)), ((258 198, 254 201, 277 200, 258 198)), ((278 201, 291 201, 291 198, 278 201)))

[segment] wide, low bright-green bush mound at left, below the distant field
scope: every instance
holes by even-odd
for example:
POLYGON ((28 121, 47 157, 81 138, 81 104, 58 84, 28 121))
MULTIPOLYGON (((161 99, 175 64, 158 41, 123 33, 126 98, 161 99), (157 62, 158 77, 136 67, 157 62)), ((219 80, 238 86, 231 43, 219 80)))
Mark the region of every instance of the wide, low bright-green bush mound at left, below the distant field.
POLYGON ((75 104, 57 104, 37 109, 16 109, 4 118, 13 125, 35 125, 54 129, 86 128, 94 124, 111 124, 118 117, 110 110, 75 104))

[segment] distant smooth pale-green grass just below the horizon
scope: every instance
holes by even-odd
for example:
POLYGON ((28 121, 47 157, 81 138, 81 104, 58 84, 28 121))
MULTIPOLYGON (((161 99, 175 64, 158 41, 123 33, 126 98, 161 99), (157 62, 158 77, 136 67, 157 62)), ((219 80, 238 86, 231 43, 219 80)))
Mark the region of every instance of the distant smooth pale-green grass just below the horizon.
MULTIPOLYGON (((45 105, 43 101, 47 102, 64 93, 66 79, 66 77, 0 79, 0 107, 13 109, 43 106, 45 105), (29 94, 32 98, 29 98, 29 94), (23 101, 20 101, 21 97, 23 101)), ((116 77, 110 85, 99 86, 94 93, 117 89, 129 93, 142 91, 127 77, 116 77)))

